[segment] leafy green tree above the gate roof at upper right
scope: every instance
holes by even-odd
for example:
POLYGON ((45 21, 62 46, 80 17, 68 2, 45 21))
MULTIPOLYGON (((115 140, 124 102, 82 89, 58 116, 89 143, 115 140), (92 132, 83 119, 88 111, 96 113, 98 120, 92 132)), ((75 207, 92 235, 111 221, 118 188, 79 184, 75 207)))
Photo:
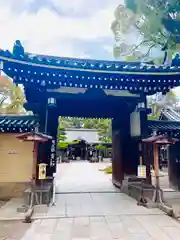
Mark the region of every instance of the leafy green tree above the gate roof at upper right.
POLYGON ((141 53, 141 58, 149 56, 152 48, 158 48, 170 59, 180 48, 180 1, 125 0, 125 6, 116 8, 111 28, 115 36, 115 57, 143 52, 145 47, 147 50, 141 53), (132 32, 138 33, 139 41, 128 45, 124 36, 132 32))

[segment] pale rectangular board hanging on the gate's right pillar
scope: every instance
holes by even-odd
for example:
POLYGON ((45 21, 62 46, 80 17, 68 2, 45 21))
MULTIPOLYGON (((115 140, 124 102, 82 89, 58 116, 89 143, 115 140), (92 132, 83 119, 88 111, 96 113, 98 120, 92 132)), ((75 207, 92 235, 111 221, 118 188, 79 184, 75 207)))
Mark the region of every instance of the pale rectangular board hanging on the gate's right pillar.
POLYGON ((141 136, 141 118, 140 112, 132 112, 130 115, 131 137, 141 136))

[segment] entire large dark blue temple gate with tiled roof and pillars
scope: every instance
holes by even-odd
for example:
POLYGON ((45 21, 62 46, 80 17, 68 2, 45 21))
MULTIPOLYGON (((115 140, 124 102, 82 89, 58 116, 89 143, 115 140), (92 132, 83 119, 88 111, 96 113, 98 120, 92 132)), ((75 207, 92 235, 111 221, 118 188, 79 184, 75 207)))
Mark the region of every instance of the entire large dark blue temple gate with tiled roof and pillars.
POLYGON ((146 96, 179 86, 178 67, 21 54, 0 50, 1 66, 24 86, 25 108, 38 116, 39 131, 53 136, 39 148, 48 176, 56 171, 58 116, 111 118, 113 183, 136 175, 139 141, 147 135, 146 96))

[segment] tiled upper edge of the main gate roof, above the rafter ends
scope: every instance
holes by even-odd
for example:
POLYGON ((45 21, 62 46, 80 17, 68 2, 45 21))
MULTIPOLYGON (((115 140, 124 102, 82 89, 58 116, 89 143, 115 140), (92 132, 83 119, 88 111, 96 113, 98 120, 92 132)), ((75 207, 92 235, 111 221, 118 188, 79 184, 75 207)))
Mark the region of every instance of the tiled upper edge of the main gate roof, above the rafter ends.
POLYGON ((98 73, 116 73, 116 74, 152 74, 167 75, 179 74, 180 66, 153 66, 142 65, 139 62, 121 62, 121 61, 103 61, 77 58, 60 58, 25 54, 19 58, 15 57, 9 51, 0 50, 0 60, 14 63, 32 64, 44 68, 59 70, 98 72, 98 73))

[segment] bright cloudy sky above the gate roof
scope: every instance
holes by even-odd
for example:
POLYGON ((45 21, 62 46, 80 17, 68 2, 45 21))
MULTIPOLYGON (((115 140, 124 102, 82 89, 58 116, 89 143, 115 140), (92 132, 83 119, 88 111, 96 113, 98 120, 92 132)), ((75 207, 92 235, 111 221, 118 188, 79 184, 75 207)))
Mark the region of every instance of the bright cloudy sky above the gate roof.
MULTIPOLYGON (((0 48, 21 40, 25 51, 114 60, 111 23, 123 0, 0 0, 0 48)), ((135 34, 128 36, 135 43, 135 34)), ((180 90, 177 91, 180 95, 180 90)))

